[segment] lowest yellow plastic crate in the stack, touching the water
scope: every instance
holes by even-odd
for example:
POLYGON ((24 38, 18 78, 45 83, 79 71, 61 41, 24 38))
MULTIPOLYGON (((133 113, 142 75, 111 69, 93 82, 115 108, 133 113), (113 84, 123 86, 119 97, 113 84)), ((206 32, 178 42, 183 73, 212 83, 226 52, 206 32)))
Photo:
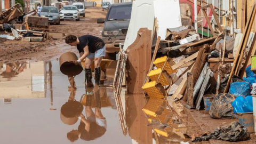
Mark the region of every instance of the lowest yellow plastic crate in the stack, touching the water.
POLYGON ((165 95, 157 89, 156 81, 145 83, 142 89, 149 95, 150 98, 164 98, 165 95))

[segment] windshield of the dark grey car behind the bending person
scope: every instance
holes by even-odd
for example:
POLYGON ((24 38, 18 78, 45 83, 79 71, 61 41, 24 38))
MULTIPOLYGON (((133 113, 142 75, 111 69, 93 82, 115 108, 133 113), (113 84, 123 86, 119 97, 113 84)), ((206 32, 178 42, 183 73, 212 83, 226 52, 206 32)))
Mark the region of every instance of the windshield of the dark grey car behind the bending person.
POLYGON ((131 19, 132 5, 113 6, 109 11, 109 20, 131 19))

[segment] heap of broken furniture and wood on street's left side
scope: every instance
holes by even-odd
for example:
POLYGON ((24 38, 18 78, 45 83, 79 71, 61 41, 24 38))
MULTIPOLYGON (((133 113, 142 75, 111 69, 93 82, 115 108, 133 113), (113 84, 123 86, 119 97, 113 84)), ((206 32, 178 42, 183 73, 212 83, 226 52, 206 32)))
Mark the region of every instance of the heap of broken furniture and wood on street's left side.
POLYGON ((62 39, 62 33, 51 33, 49 19, 36 17, 36 11, 30 11, 23 17, 25 22, 15 21, 23 12, 20 4, 0 14, 0 38, 18 39, 21 42, 44 42, 47 39, 62 39), (10 24, 12 23, 12 24, 10 24))

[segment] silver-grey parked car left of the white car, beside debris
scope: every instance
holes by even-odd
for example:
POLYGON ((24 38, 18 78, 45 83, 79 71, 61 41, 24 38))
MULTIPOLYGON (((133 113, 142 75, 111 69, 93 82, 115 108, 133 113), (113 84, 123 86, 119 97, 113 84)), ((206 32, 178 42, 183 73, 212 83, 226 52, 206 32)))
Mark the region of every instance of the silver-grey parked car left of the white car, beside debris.
POLYGON ((56 23, 60 25, 60 14, 57 7, 44 6, 41 11, 41 17, 49 18, 49 23, 56 23))

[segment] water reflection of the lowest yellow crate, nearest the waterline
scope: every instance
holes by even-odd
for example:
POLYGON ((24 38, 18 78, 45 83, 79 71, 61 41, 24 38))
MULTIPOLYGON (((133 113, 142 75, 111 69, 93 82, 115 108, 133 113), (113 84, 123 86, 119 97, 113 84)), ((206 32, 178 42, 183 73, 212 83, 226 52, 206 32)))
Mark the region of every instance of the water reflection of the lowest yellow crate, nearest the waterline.
POLYGON ((166 107, 164 99, 149 99, 142 111, 148 116, 157 117, 157 115, 162 114, 164 107, 166 107))

